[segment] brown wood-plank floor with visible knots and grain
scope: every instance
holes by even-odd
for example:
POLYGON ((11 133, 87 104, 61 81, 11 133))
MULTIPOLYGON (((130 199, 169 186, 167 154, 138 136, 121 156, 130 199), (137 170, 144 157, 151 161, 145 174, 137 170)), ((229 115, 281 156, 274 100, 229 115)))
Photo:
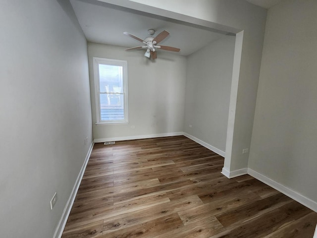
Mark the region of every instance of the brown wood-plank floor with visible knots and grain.
POLYGON ((95 144, 62 238, 313 238, 317 213, 184 136, 95 144))

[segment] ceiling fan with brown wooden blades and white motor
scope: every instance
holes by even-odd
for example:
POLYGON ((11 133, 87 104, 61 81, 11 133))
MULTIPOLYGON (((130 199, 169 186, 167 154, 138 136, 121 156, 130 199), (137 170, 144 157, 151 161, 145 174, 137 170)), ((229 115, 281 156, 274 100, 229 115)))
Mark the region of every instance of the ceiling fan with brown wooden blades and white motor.
POLYGON ((153 37, 155 30, 150 29, 148 30, 149 37, 145 38, 142 40, 141 38, 134 36, 128 32, 123 32, 124 35, 127 35, 129 37, 132 37, 133 39, 136 39, 138 41, 141 41, 142 43, 146 44, 145 46, 136 46, 132 48, 125 49, 126 51, 131 51, 131 50, 138 50, 138 49, 147 49, 144 56, 152 59, 157 59, 157 49, 165 50, 165 51, 173 51, 173 52, 179 52, 180 49, 175 48, 175 47, 170 47, 170 46, 162 46, 162 45, 157 45, 159 42, 164 40, 168 35, 168 31, 162 31, 157 35, 156 37, 153 37))

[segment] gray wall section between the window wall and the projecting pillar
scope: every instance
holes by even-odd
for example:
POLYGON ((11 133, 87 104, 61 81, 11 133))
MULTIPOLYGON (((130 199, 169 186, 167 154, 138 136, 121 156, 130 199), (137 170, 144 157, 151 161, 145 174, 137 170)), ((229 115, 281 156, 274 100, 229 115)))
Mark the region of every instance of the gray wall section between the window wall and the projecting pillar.
POLYGON ((234 36, 223 36, 187 59, 184 131, 221 151, 226 147, 234 44, 234 36))

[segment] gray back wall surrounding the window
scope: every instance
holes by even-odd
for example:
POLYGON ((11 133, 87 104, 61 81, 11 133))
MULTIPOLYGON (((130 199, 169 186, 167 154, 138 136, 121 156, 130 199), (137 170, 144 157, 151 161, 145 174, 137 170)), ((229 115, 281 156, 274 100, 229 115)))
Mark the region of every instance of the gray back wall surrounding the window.
MULTIPOLYGON (((151 135, 183 131, 186 58, 158 52, 158 60, 144 51, 126 52, 123 47, 89 43, 93 130, 96 141, 105 138, 151 135), (129 123, 96 125, 93 57, 128 61, 129 123), (132 129, 131 125, 135 128, 132 129)), ((106 140, 105 140, 106 141, 106 140)))

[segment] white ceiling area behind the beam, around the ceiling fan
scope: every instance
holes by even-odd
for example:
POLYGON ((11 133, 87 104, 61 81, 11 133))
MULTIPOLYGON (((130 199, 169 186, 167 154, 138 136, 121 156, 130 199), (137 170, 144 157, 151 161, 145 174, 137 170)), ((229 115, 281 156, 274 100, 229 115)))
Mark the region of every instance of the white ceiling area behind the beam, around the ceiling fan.
POLYGON ((90 42, 129 48, 141 46, 142 43, 124 35, 125 31, 145 39, 149 36, 148 29, 156 30, 154 36, 167 30, 170 35, 160 44, 181 49, 179 53, 172 54, 188 56, 226 34, 97 0, 70 2, 90 42))

